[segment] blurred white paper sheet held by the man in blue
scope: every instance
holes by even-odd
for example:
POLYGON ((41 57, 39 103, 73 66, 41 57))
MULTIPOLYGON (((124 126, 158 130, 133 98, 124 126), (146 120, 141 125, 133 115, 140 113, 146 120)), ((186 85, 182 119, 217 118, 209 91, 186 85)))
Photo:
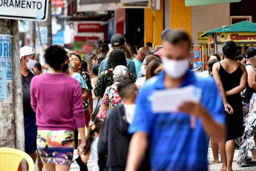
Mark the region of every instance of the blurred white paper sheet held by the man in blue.
POLYGON ((153 113, 178 112, 184 102, 201 100, 202 90, 194 86, 158 90, 152 94, 153 113))

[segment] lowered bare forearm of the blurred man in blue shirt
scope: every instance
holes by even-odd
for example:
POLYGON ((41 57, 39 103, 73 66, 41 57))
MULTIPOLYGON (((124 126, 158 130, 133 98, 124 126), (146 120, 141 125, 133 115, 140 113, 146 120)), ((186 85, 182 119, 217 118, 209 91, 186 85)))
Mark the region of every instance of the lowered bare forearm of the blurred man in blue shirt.
POLYGON ((126 171, 137 171, 143 161, 148 147, 148 135, 145 132, 136 132, 130 142, 126 171))

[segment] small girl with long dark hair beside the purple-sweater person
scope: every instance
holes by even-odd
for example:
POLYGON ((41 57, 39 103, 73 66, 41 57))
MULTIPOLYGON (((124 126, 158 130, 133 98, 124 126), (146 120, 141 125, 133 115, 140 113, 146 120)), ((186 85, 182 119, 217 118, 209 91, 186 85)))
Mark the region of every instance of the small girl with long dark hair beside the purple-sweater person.
POLYGON ((100 117, 101 115, 97 115, 94 123, 90 127, 89 134, 86 139, 85 148, 82 149, 78 147, 80 158, 82 159, 83 163, 86 164, 87 161, 89 160, 90 155, 92 155, 93 157, 92 171, 99 171, 97 146, 98 146, 101 126, 103 125, 103 121, 104 121, 104 119, 100 117))

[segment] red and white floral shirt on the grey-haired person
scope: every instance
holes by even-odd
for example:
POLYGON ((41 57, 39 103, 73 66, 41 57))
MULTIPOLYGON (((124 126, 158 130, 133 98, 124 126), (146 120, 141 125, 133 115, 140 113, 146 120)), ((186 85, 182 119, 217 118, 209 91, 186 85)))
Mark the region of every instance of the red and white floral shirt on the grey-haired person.
POLYGON ((114 83, 110 87, 106 88, 105 94, 102 98, 101 105, 108 106, 111 110, 114 106, 119 106, 123 104, 123 100, 118 95, 117 91, 118 82, 114 83))

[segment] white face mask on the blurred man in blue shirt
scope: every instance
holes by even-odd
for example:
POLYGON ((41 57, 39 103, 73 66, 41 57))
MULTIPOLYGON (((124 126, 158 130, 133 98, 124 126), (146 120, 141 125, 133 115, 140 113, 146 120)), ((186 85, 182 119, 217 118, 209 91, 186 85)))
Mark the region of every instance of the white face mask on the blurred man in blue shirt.
POLYGON ((180 78, 189 70, 190 59, 173 60, 162 58, 163 69, 171 78, 180 78))

